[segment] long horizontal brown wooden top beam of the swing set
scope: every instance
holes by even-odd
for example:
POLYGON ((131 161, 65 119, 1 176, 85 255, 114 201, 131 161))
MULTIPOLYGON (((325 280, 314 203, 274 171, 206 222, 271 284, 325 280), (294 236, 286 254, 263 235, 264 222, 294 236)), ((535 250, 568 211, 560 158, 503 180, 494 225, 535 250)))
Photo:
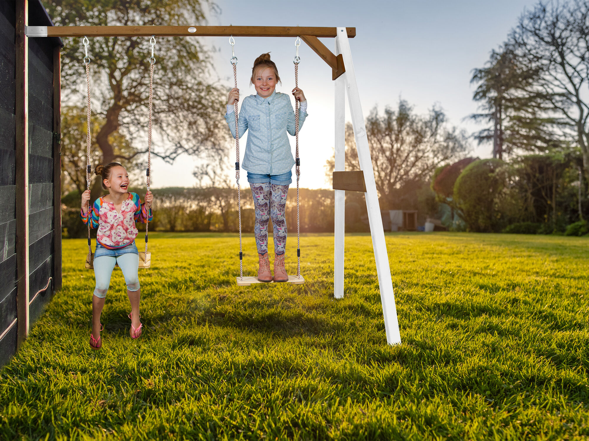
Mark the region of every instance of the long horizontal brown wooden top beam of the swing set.
MULTIPOLYGON (((348 38, 356 28, 346 28, 348 38)), ((335 38, 337 28, 313 26, 48 26, 47 36, 272 36, 315 35, 335 38), (192 32, 191 32, 192 30, 192 32)), ((34 35, 31 35, 34 36, 34 35)))

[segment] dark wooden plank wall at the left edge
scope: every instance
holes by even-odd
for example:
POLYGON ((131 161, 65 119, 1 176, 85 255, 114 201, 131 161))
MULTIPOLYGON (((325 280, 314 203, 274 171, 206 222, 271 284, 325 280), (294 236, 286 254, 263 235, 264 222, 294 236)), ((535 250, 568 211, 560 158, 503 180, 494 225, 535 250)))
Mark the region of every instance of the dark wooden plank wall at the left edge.
MULTIPOLYGON (((21 225, 19 233, 16 222, 24 212, 19 203, 22 189, 16 185, 19 176, 24 176, 19 164, 27 162, 22 160, 24 153, 16 154, 25 121, 24 108, 19 104, 24 102, 19 102, 24 95, 23 77, 18 76, 22 72, 17 68, 21 46, 16 32, 18 9, 22 11, 23 4, 22 0, 0 1, 0 366, 24 339, 27 311, 32 324, 54 288, 61 288, 59 41, 54 38, 28 39, 28 146, 22 150, 27 152, 28 161, 28 232, 21 225), (18 262, 23 261, 26 250, 22 247, 25 241, 17 237, 25 232, 29 243, 28 284, 17 280, 18 274, 25 273, 18 262), (28 305, 23 289, 28 289, 28 305)), ((39 0, 28 2, 28 24, 51 25, 39 0)))

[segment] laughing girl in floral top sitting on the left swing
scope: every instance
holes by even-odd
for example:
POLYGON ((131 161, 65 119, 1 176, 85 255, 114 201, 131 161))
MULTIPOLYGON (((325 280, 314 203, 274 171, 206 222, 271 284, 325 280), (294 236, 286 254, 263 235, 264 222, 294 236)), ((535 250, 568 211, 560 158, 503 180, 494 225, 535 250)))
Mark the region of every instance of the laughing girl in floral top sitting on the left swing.
POLYGON ((102 188, 108 190, 108 195, 98 198, 90 212, 87 212, 90 201, 90 190, 82 193, 82 211, 80 216, 85 225, 90 222, 91 228, 98 228, 96 233, 96 251, 94 253, 94 275, 96 288, 92 296, 92 332, 90 346, 100 349, 100 314, 104 307, 104 300, 110 286, 112 270, 116 263, 123 270, 127 283, 127 296, 131 303, 131 338, 141 336, 139 322, 139 300, 141 290, 137 270, 139 267, 139 253, 135 246, 137 227, 135 222, 149 222, 153 195, 150 191, 145 194, 145 203, 137 193, 127 192, 129 176, 127 170, 118 162, 107 165, 97 165, 94 171, 102 178, 102 188))

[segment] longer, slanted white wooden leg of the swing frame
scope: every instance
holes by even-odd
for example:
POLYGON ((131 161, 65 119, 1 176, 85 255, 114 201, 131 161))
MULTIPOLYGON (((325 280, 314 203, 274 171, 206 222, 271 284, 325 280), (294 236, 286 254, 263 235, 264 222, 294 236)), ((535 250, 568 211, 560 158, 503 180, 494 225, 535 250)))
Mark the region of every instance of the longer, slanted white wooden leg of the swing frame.
POLYGON ((380 302, 382 303, 382 312, 385 318, 386 340, 389 345, 396 345, 401 343, 401 333, 399 333, 395 294, 393 293, 393 282, 391 280, 391 268, 389 267, 389 256, 386 252, 385 231, 382 228, 382 217, 380 216, 378 193, 376 193, 372 159, 370 158, 366 126, 362 113, 362 104, 360 103, 360 93, 358 91, 358 83, 356 82, 356 74, 352 63, 352 54, 350 52, 348 35, 346 35, 346 28, 337 28, 336 40, 337 48, 339 48, 343 56, 343 64, 346 66, 346 73, 342 76, 345 77, 346 89, 348 91, 348 102, 356 139, 356 149, 358 149, 360 169, 364 172, 364 181, 366 183, 366 193, 364 193, 364 196, 366 198, 366 208, 368 209, 372 248, 374 249, 376 260, 380 302))

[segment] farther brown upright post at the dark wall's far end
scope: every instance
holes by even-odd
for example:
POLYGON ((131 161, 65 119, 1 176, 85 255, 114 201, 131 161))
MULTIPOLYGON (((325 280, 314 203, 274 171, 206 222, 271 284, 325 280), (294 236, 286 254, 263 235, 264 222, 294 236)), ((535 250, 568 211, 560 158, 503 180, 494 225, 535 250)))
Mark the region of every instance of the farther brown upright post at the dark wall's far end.
POLYGON ((61 289, 61 53, 53 49, 53 290, 61 289))

